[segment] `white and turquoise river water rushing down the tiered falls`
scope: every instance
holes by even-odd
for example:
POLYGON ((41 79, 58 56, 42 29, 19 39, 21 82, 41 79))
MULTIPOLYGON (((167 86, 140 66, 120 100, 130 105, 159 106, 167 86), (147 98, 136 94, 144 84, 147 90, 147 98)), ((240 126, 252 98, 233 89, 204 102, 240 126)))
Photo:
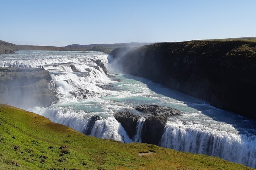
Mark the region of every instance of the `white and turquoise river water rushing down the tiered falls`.
POLYGON ((141 142, 145 119, 137 122, 136 134, 131 139, 113 114, 140 104, 172 107, 182 111, 182 115, 169 118, 159 146, 217 156, 256 168, 255 121, 144 78, 118 72, 109 78, 96 62, 100 60, 111 69, 108 58, 111 56, 101 52, 18 51, 1 55, 0 66, 15 62, 16 66, 43 65, 49 70, 53 81, 48 88, 57 91, 58 101, 47 108, 24 106, 23 109, 51 121, 84 132, 90 128, 91 117, 98 115, 100 118, 91 127, 90 135, 126 143, 141 142))

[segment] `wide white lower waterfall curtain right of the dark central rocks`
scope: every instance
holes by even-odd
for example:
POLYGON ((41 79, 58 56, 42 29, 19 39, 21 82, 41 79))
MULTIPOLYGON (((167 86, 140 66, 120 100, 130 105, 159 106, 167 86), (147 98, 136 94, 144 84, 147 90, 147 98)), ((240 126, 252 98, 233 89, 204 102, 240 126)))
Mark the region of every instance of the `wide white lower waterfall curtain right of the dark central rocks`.
POLYGON ((206 154, 256 166, 256 136, 214 131, 209 128, 184 125, 182 122, 168 121, 160 146, 177 151, 206 154))

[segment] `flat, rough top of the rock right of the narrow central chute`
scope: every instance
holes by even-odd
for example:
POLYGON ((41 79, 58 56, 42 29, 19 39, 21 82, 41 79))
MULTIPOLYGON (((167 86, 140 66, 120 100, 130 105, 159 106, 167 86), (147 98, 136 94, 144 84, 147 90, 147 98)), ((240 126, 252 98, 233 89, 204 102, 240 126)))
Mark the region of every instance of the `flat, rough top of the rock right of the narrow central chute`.
POLYGON ((180 115, 180 111, 177 109, 173 109, 170 107, 165 107, 165 106, 158 106, 158 105, 140 105, 140 106, 135 106, 134 109, 140 112, 144 113, 152 113, 155 116, 162 115, 162 116, 173 116, 173 115, 180 115))

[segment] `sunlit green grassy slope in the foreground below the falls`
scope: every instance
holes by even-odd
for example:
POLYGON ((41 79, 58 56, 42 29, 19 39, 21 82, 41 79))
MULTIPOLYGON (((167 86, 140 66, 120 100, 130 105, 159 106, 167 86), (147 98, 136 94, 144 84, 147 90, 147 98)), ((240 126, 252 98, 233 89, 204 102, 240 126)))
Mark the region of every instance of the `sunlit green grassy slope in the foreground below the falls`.
POLYGON ((3 104, 0 125, 0 169, 251 169, 217 157, 86 136, 3 104))

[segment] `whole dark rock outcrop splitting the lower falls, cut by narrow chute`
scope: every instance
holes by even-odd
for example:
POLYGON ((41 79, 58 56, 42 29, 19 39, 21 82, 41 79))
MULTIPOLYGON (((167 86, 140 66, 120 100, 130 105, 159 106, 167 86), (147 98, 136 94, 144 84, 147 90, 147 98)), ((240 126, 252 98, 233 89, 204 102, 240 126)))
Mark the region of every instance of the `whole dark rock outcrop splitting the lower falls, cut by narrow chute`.
POLYGON ((134 109, 141 112, 141 115, 133 114, 128 109, 117 112, 114 117, 119 121, 126 130, 130 138, 136 133, 137 122, 140 118, 145 117, 142 127, 142 142, 158 145, 168 117, 180 115, 180 111, 174 108, 158 105, 140 105, 134 109))

